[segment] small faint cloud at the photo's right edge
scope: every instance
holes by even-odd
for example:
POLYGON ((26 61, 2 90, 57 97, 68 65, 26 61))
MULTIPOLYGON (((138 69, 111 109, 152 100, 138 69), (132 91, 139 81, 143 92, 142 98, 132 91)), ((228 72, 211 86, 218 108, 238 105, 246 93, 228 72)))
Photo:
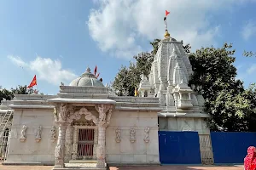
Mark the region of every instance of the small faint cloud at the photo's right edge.
POLYGON ((242 27, 241 36, 244 40, 248 40, 250 37, 256 36, 256 23, 252 20, 248 20, 242 27))

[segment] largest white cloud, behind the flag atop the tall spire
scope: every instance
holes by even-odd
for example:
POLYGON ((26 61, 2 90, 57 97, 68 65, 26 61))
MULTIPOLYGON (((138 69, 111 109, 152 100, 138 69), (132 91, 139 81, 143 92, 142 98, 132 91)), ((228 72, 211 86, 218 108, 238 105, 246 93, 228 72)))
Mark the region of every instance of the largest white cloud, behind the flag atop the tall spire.
MULTIPOLYGON (((143 50, 140 45, 165 33, 164 15, 169 10, 168 30, 172 37, 189 42, 193 49, 215 45, 220 26, 211 26, 207 14, 232 8, 247 0, 95 0, 90 11, 90 36, 103 52, 131 58, 143 50), (146 40, 146 41, 145 41, 146 40)), ((231 10, 231 9, 230 9, 231 10)))

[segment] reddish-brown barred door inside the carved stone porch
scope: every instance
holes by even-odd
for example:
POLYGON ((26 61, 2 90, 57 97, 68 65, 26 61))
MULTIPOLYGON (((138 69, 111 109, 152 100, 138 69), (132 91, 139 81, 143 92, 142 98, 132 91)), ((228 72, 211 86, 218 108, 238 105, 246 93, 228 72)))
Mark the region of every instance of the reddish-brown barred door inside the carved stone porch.
POLYGON ((95 129, 79 128, 78 158, 79 160, 92 159, 94 156, 95 129))

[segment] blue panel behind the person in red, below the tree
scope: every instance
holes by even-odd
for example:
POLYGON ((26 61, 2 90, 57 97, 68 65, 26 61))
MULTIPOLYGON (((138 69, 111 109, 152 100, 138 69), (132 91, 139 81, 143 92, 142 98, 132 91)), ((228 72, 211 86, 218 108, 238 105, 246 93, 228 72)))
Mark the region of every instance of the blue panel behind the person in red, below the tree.
POLYGON ((212 132, 214 163, 243 163, 247 148, 256 146, 256 133, 212 132))

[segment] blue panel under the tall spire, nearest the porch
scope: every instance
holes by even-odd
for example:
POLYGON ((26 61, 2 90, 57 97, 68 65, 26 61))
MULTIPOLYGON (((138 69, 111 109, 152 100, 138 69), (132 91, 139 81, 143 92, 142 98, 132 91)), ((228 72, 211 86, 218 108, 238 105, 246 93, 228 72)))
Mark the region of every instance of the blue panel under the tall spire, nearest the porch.
POLYGON ((159 131, 161 164, 201 164, 197 132, 159 131))

